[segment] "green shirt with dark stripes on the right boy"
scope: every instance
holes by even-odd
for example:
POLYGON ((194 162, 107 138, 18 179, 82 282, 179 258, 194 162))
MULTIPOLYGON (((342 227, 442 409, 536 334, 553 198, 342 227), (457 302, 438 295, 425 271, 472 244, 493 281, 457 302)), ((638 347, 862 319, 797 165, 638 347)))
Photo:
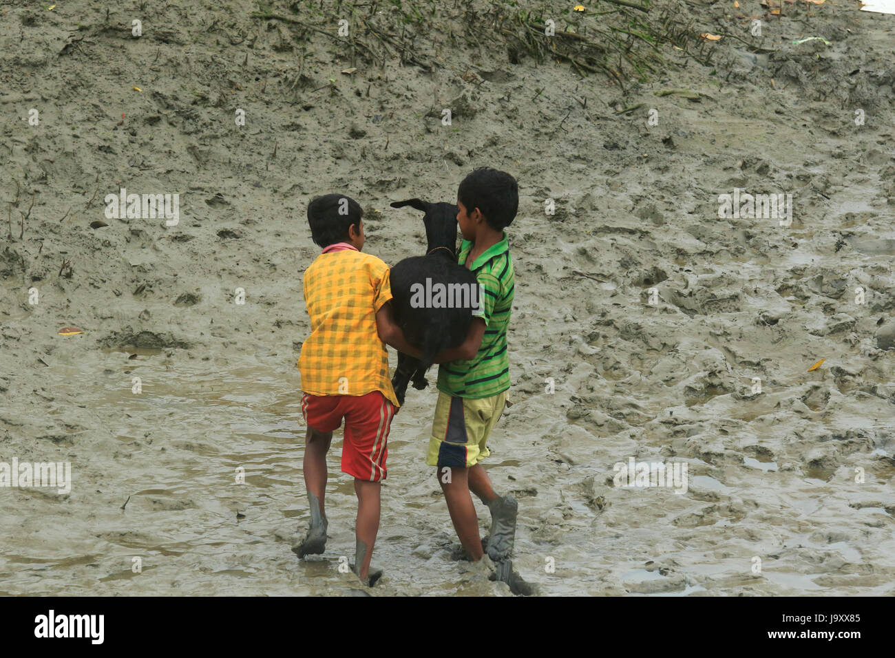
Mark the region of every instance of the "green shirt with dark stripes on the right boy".
MULTIPOLYGON (((460 265, 465 265, 472 248, 473 243, 468 240, 460 245, 460 265)), ((485 335, 472 360, 439 365, 439 390, 458 397, 496 396, 509 388, 507 326, 513 308, 514 276, 506 232, 469 269, 483 292, 479 317, 485 320, 485 335)))

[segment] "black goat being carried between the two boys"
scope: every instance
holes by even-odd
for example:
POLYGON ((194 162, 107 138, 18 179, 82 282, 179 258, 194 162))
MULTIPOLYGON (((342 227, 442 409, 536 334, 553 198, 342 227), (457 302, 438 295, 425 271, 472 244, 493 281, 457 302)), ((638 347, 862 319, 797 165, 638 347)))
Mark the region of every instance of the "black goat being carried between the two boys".
POLYGON ((482 300, 475 275, 456 264, 456 205, 410 199, 396 201, 391 206, 411 206, 425 212, 422 222, 429 243, 425 256, 405 258, 391 269, 395 322, 404 331, 407 341, 422 350, 422 359, 400 352, 397 355, 392 386, 398 402, 403 405, 407 383, 413 379, 414 389, 425 389, 429 384, 426 371, 435 355, 463 345, 473 308, 482 300), (444 292, 441 297, 443 306, 436 301, 436 295, 420 303, 421 293, 437 291, 439 286, 444 292), (435 303, 431 303, 433 301, 435 303))

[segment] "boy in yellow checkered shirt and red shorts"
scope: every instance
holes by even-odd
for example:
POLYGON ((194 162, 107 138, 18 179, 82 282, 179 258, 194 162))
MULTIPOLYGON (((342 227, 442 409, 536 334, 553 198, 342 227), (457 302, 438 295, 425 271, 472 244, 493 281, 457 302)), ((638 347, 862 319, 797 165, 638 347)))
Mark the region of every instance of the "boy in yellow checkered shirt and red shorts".
POLYGON ((345 420, 342 471, 354 476, 357 494, 354 573, 375 585, 381 569, 370 559, 379 531, 379 489, 386 478, 388 429, 398 407, 388 378, 386 345, 419 355, 392 317, 388 265, 362 253, 363 211, 344 194, 326 194, 308 204, 314 243, 323 252, 304 272, 304 303, 311 336, 302 345, 302 414, 307 423, 304 483, 311 525, 293 551, 320 554, 327 542, 324 510, 327 452, 332 433, 345 420))

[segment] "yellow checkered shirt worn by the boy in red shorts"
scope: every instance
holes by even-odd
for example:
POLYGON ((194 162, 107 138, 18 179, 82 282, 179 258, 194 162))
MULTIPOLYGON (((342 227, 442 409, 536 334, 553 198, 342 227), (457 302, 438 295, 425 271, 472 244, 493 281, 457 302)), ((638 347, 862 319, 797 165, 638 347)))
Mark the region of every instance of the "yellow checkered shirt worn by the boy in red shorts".
POLYGON ((395 406, 388 351, 376 312, 392 298, 389 269, 369 253, 321 253, 304 271, 304 303, 311 336, 298 369, 302 390, 318 396, 362 396, 378 390, 395 406))

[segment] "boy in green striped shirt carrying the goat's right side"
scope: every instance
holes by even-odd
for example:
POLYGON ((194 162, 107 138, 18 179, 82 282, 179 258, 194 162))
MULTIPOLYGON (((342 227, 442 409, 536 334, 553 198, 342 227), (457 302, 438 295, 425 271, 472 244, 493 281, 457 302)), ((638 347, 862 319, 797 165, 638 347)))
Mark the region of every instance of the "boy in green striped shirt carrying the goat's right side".
POLYGON ((476 169, 457 191, 456 218, 463 234, 457 262, 478 279, 479 309, 464 344, 436 357, 441 364, 439 400, 426 457, 426 464, 437 467, 451 521, 473 562, 482 560, 484 551, 470 491, 490 509, 488 556, 507 582, 516 500, 495 493, 481 462, 490 454, 485 441, 503 413, 509 389, 507 325, 514 277, 503 229, 516 218, 518 207, 516 179, 495 169, 476 169))

